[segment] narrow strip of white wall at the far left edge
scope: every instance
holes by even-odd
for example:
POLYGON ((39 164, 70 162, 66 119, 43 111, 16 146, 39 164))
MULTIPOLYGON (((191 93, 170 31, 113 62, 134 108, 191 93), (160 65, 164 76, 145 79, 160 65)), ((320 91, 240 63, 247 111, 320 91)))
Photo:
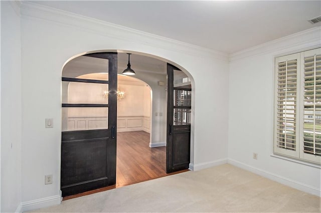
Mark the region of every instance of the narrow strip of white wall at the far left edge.
POLYGON ((19 6, 1 1, 1 212, 21 203, 21 38, 19 6))

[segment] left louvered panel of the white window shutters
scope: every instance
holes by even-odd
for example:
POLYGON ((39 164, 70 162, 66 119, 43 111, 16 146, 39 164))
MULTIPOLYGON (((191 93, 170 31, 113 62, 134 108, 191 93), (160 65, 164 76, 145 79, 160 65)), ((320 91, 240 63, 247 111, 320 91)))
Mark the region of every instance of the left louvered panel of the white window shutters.
POLYGON ((297 157, 298 54, 276 58, 276 108, 274 151, 297 157))

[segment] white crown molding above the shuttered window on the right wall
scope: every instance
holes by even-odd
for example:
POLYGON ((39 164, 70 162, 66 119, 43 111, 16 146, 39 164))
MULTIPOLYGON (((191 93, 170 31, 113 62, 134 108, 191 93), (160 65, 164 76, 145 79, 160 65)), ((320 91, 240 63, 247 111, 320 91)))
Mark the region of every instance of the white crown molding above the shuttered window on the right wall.
POLYGON ((306 29, 285 37, 281 37, 266 43, 253 46, 235 53, 230 54, 230 61, 250 57, 253 55, 266 54, 293 46, 321 44, 321 26, 306 29))

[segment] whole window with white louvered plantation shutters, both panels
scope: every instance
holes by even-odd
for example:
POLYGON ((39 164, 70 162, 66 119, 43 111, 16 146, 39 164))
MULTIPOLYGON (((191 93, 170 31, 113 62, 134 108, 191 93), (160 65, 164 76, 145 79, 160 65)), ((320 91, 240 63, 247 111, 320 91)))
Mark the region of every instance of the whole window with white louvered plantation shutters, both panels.
POLYGON ((321 48, 275 58, 274 152, 321 161, 321 48))

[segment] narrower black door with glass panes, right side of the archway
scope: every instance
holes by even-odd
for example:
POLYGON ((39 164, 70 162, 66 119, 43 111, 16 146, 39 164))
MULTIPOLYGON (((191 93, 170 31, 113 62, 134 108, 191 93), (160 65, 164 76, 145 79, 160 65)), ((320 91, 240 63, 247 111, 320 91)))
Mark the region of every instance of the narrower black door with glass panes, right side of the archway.
POLYGON ((167 64, 167 162, 166 171, 189 168, 191 147, 191 83, 179 68, 167 64))

